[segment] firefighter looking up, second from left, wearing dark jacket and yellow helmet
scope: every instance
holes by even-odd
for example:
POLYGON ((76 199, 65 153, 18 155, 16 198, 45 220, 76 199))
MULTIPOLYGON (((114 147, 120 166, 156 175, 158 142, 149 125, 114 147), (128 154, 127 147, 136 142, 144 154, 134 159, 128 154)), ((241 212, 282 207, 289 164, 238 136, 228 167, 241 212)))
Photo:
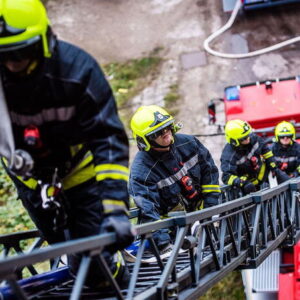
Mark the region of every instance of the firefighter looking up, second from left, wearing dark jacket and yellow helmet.
MULTIPOLYGON (((218 169, 209 151, 194 136, 176 133, 179 126, 165 109, 141 106, 130 125, 140 151, 131 166, 129 193, 142 223, 159 220, 180 204, 187 211, 218 204, 218 169)), ((170 242, 167 229, 153 238, 159 249, 170 242)))

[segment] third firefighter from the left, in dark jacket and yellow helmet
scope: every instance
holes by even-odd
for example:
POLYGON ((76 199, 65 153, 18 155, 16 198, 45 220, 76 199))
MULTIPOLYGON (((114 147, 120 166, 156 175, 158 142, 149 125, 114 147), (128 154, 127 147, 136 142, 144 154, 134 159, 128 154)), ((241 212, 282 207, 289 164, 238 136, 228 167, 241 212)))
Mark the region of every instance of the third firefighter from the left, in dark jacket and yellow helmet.
POLYGON ((279 183, 288 176, 276 167, 275 159, 264 140, 252 132, 250 124, 242 120, 226 123, 225 145, 221 155, 222 180, 227 185, 242 189, 244 194, 259 190, 267 181, 268 171, 279 183))

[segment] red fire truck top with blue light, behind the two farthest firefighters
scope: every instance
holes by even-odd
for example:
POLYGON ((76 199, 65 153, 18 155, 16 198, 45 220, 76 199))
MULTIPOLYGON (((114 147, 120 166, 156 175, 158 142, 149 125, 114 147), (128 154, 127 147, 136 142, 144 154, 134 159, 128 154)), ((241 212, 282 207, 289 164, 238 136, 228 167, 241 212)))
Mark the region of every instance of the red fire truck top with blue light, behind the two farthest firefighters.
POLYGON ((225 88, 226 121, 247 120, 266 129, 280 121, 300 122, 300 77, 267 80, 225 88))

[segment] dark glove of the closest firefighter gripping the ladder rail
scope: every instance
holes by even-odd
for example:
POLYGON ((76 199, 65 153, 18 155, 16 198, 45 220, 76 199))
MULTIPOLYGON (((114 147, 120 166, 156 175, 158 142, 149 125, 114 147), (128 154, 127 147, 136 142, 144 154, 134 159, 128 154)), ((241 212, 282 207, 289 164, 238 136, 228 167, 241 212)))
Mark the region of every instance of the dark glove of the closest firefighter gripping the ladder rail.
POLYGON ((135 230, 124 212, 111 213, 104 217, 100 233, 107 232, 115 232, 117 236, 117 243, 108 247, 110 252, 126 248, 135 237, 135 230))

